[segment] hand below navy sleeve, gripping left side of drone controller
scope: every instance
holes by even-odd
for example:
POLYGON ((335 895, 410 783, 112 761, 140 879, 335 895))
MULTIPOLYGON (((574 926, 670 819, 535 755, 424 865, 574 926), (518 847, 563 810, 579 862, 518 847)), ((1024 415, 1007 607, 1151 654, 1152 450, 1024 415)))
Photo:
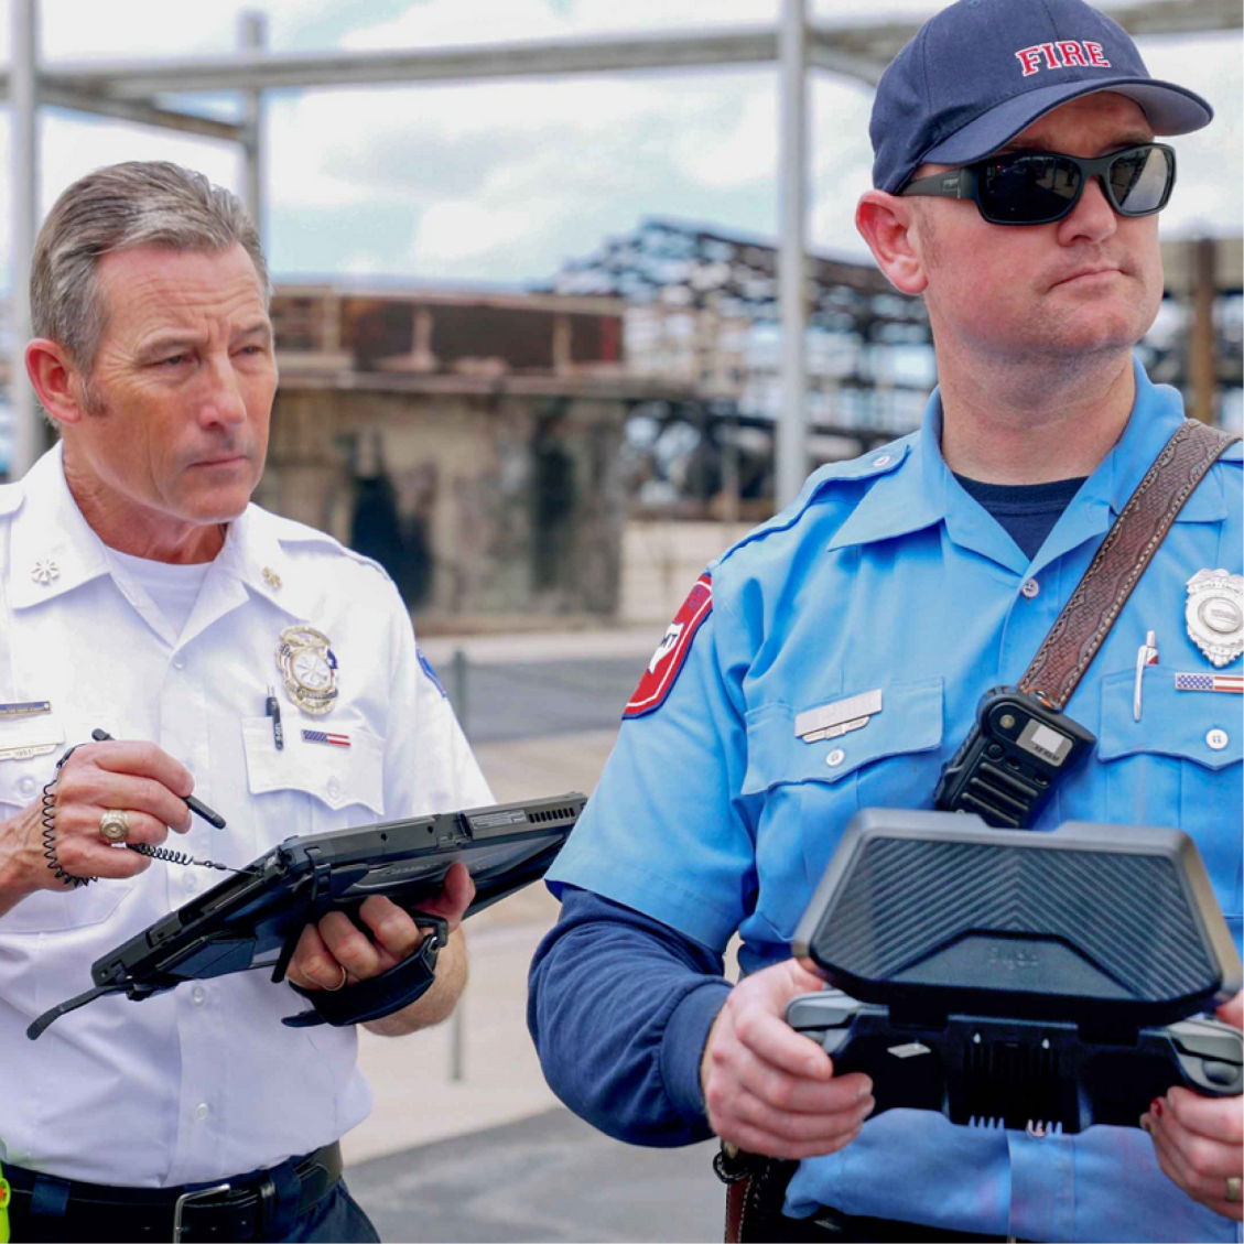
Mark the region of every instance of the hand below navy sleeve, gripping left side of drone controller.
POLYGON ((822 984, 791 959, 730 991, 700 1060, 708 1120, 723 1141, 749 1153, 806 1158, 860 1135, 876 1105, 872 1081, 858 1071, 836 1077, 830 1056, 782 1019, 792 998, 822 984))

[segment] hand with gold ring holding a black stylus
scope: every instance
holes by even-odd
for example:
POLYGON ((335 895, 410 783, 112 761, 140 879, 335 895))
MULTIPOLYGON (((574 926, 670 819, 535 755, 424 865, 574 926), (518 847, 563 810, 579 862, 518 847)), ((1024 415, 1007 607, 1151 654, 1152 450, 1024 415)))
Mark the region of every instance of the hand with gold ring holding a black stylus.
MULTIPOLYGON (((72 877, 133 877, 151 867, 137 851, 100 837, 100 817, 118 809, 129 820, 128 842, 157 845, 169 829, 184 833, 190 810, 183 796, 194 790, 184 765, 154 743, 109 740, 77 748, 65 763, 53 792, 53 846, 72 877)), ((36 889, 63 889, 44 855, 42 797, 0 822, 0 914, 36 889)))

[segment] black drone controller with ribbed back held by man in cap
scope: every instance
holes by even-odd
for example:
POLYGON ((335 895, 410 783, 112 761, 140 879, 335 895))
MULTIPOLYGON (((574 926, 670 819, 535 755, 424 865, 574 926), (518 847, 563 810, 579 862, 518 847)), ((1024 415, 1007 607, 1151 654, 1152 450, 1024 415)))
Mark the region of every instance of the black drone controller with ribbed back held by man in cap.
POLYGON ((1176 1085, 1244 1093, 1244 1034, 1194 1018, 1244 967, 1178 830, 868 809, 794 950, 833 988, 787 1023, 872 1077, 877 1113, 1080 1132, 1136 1127, 1176 1085))

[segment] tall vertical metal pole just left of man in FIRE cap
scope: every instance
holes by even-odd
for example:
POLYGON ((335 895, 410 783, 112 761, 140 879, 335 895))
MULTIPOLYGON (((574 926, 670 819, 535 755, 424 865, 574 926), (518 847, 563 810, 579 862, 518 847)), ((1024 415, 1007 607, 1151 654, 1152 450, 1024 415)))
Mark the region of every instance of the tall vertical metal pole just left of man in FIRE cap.
POLYGON ((781 250, 778 264, 781 305, 781 414, 778 420, 774 503, 789 505, 807 474, 806 358, 807 311, 804 253, 807 218, 807 0, 782 0, 778 44, 781 65, 781 250))

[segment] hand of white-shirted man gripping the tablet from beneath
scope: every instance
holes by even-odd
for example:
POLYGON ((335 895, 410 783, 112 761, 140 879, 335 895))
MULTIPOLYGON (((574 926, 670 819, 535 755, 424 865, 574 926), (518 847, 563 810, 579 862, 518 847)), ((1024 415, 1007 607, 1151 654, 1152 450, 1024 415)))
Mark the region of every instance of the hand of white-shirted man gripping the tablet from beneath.
MULTIPOLYGON (((463 863, 448 873, 440 893, 419 909, 449 922, 452 933, 475 897, 475 883, 463 863)), ((423 944, 424 929, 411 916, 379 894, 366 899, 360 918, 371 931, 362 932, 345 912, 330 912, 318 924, 309 924, 286 973, 302 989, 340 989, 369 980, 411 958, 423 944)))

